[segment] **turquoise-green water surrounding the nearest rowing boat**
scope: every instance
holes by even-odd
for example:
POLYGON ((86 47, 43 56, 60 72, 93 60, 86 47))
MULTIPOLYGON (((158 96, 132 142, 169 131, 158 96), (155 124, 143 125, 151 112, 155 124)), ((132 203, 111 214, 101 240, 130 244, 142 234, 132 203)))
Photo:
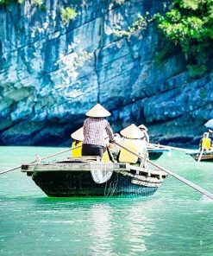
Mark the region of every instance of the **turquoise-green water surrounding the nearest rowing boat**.
MULTIPOLYGON (((63 149, 0 147, 0 170, 63 149)), ((173 152, 160 165, 213 193, 213 163, 173 152)), ((213 202, 169 176, 147 198, 48 198, 0 176, 0 255, 213 255, 213 202)))

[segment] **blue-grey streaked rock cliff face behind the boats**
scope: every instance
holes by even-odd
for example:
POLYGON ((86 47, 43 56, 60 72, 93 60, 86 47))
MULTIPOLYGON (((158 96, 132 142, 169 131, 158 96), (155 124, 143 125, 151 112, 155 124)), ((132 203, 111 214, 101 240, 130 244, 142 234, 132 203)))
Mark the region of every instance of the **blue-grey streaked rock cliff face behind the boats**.
POLYGON ((155 61, 160 35, 152 23, 130 37, 114 33, 138 14, 164 12, 167 2, 1 6, 0 144, 68 145, 97 102, 112 113, 114 131, 143 123, 153 142, 197 144, 213 118, 213 72, 190 80, 180 54, 155 61), (67 6, 78 13, 69 23, 60 15, 67 6))

